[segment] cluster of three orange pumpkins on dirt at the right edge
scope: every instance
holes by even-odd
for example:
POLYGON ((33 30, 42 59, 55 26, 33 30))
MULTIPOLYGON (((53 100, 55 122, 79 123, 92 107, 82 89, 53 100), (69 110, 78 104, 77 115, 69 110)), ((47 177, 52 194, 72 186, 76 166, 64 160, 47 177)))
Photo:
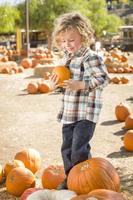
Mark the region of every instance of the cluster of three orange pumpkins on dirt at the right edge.
POLYGON ((127 151, 133 151, 133 112, 130 106, 126 103, 120 103, 115 107, 115 116, 118 121, 125 124, 124 148, 127 151))

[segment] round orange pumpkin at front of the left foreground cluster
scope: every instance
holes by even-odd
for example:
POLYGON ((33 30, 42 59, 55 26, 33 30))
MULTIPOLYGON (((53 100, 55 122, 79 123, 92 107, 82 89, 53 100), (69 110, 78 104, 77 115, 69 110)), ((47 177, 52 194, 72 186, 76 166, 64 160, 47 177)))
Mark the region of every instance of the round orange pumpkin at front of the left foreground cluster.
POLYGON ((16 167, 7 175, 6 188, 10 194, 21 196, 26 189, 31 187, 35 187, 35 176, 27 168, 16 167))

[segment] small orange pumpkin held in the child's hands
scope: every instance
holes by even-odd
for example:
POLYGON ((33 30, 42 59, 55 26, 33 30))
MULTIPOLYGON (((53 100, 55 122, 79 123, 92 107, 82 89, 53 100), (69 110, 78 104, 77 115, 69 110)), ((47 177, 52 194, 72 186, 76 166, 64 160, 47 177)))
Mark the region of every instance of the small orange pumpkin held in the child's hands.
POLYGON ((64 80, 70 78, 70 70, 66 66, 57 66, 52 71, 53 74, 56 74, 59 81, 58 83, 63 83, 64 80))

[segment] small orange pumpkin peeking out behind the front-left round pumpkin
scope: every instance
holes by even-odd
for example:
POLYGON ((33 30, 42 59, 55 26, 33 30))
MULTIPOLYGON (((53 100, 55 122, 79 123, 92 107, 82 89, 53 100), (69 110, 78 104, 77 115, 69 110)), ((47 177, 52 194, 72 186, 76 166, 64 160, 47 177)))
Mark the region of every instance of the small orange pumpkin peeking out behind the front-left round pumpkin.
POLYGON ((24 166, 24 163, 21 160, 9 161, 4 166, 5 176, 7 176, 9 174, 9 172, 15 167, 25 167, 25 166, 24 166))

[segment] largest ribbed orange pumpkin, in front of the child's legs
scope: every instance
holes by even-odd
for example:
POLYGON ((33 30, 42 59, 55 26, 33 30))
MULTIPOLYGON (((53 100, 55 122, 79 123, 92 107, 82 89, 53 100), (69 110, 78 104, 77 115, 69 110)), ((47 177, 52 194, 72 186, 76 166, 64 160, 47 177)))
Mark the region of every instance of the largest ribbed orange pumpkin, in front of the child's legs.
POLYGON ((91 158, 70 170, 67 186, 77 194, 87 194, 94 189, 119 191, 120 179, 109 161, 103 158, 91 158))

